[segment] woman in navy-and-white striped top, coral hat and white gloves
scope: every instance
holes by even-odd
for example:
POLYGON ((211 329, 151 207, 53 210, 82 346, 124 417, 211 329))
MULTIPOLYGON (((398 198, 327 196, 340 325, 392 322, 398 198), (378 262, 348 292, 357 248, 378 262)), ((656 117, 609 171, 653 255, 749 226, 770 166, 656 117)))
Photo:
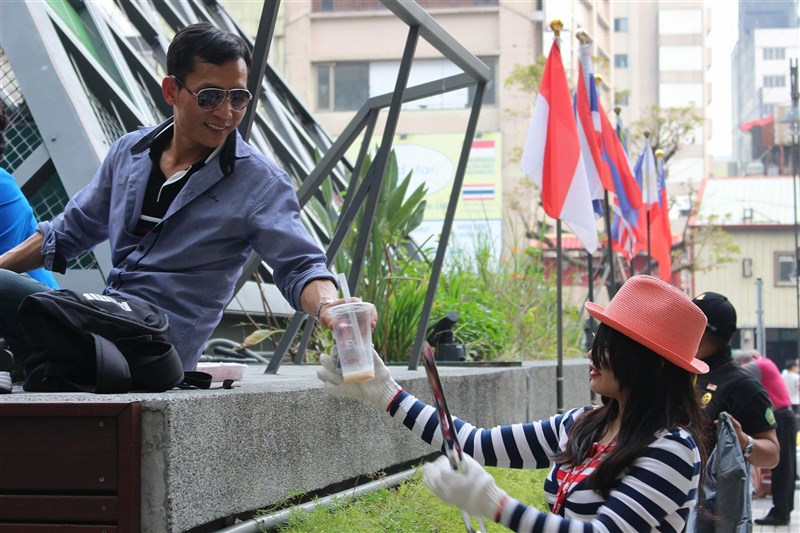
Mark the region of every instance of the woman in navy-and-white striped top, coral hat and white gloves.
MULTIPOLYGON (((442 457, 423 480, 444 501, 515 531, 682 531, 694 506, 707 424, 694 374, 705 316, 678 289, 649 276, 626 282, 609 305, 587 303, 601 325, 590 354, 601 406, 547 420, 481 429, 454 420, 464 473, 442 457), (508 496, 481 465, 550 468, 543 513, 508 496)), ((392 380, 377 354, 375 379, 341 381, 322 357, 325 390, 386 408, 441 447, 433 407, 392 380), (388 406, 388 407, 387 407, 388 406)))

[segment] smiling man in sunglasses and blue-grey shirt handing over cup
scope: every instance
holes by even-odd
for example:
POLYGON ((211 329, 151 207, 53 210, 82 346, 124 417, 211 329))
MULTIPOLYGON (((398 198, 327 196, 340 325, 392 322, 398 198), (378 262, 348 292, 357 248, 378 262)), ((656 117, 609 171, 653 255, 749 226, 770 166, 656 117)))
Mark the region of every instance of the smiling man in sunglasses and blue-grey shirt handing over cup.
POLYGON ((287 301, 330 327, 329 306, 341 302, 335 278, 300 221, 292 182, 236 129, 251 100, 250 63, 241 38, 210 24, 175 35, 161 82, 173 116, 114 143, 64 213, 0 256, 0 336, 15 354, 27 352, 18 302, 41 290, 15 272, 63 273, 68 259, 106 239, 114 266, 104 292, 163 309, 186 370, 253 250, 287 301))

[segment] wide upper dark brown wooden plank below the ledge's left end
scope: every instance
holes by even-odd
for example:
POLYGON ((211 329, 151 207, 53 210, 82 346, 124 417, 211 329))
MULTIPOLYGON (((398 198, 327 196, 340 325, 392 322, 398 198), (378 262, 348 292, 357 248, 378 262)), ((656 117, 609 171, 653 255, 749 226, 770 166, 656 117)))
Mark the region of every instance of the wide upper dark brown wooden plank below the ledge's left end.
POLYGON ((117 491, 117 419, 3 418, 0 491, 117 491))

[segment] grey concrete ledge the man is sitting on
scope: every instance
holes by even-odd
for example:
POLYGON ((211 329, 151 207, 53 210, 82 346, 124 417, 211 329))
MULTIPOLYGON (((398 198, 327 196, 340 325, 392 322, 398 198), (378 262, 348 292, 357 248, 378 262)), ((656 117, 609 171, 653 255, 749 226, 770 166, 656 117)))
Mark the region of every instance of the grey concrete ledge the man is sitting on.
MULTIPOLYGON (((588 361, 564 363, 565 408, 590 403, 588 361)), ((142 531, 182 532, 366 476, 432 449, 386 413, 320 389, 317 367, 250 367, 233 390, 125 395, 32 394, 4 402, 141 402, 142 531)), ((425 372, 391 367, 429 401, 425 372)), ((440 367, 453 416, 479 426, 556 412, 554 362, 440 367)))

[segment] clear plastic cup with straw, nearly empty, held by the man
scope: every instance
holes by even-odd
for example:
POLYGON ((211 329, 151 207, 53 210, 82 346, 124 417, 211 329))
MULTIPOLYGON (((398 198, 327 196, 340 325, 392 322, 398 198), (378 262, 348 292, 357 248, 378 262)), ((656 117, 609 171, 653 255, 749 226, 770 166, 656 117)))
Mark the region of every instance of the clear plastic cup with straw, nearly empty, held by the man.
POLYGON ((372 363, 372 309, 368 302, 340 304, 328 308, 333 321, 333 339, 345 383, 375 377, 372 363))

